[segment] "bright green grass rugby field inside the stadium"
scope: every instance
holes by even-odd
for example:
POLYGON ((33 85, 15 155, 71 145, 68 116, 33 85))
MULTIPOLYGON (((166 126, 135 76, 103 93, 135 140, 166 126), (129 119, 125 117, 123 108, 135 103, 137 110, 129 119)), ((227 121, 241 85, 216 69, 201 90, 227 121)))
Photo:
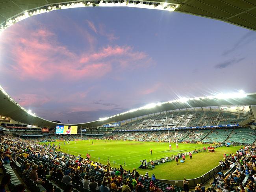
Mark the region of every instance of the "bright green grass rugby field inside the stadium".
MULTIPOLYGON (((51 142, 51 144, 59 144, 59 142, 51 142)), ((46 143, 48 144, 48 143, 46 143)), ((177 153, 183 153, 187 151, 193 151, 195 149, 202 149, 206 144, 179 144, 179 148, 176 149, 176 144, 172 144, 174 148, 169 150, 168 143, 158 142, 136 142, 136 141, 115 141, 115 140, 83 140, 83 141, 71 141, 69 145, 61 145, 63 152, 69 152, 73 155, 81 154, 82 157, 86 157, 86 154, 91 155, 91 160, 98 161, 106 164, 111 162, 113 167, 119 167, 121 164, 126 170, 132 170, 138 168, 141 165, 139 160, 147 159, 150 160, 160 159, 162 157, 176 155, 177 153), (93 141, 93 144, 92 144, 93 141), (150 148, 153 153, 150 154, 150 148), (126 166, 124 166, 124 161, 126 166)), ((193 159, 190 160, 189 156, 186 157, 185 163, 176 162, 165 162, 164 164, 157 165, 154 170, 148 168, 137 169, 139 174, 145 174, 148 172, 149 175, 155 174, 157 179, 192 179, 199 177, 204 173, 210 171, 219 164, 219 161, 223 158, 223 153, 232 153, 238 150, 239 146, 232 146, 229 148, 220 147, 216 148, 215 153, 200 152, 193 154, 193 159)))

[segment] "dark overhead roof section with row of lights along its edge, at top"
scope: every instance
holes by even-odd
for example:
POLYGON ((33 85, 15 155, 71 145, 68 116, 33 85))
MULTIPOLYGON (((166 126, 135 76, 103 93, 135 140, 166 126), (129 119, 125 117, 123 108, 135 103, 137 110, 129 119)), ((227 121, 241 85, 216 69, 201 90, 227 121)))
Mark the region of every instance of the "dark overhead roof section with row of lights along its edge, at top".
POLYGON ((0 0, 0 31, 32 15, 55 9, 85 6, 129 6, 165 9, 222 20, 256 30, 255 0, 0 0))

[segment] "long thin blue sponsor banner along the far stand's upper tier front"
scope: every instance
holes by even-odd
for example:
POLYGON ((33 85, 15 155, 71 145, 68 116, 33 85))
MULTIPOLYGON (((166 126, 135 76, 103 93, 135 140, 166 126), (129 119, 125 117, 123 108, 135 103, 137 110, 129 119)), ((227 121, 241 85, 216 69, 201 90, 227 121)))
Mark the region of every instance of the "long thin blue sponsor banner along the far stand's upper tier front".
MULTIPOLYGON (((202 128, 218 128, 218 127, 237 127, 239 124, 230 124, 230 125, 219 125, 219 126, 195 126, 195 127, 175 127, 175 129, 202 129, 202 128)), ((174 127, 168 128, 169 130, 174 130, 174 127)), ((115 130, 114 132, 121 131, 167 131, 167 128, 160 129, 132 129, 132 130, 115 130)))

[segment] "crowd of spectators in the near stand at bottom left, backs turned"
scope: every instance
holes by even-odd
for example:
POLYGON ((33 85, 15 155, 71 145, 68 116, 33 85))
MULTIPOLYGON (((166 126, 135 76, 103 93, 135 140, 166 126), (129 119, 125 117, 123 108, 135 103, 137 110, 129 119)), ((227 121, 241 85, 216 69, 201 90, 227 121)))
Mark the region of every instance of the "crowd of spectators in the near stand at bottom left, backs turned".
MULTIPOLYGON (((149 180, 148 177, 139 175, 135 168, 132 171, 126 171, 122 166, 111 168, 110 162, 100 164, 88 158, 83 159, 80 155, 75 157, 56 151, 50 144, 40 145, 33 140, 10 135, 1 135, 1 142, 0 154, 4 163, 14 164, 15 159, 20 161, 20 177, 24 181, 29 178, 35 184, 42 185, 47 192, 52 191, 52 186, 47 185, 46 179, 65 183, 66 192, 73 189, 93 192, 109 192, 110 189, 113 192, 141 192, 145 191, 143 182, 149 180), (130 179, 126 178, 127 176, 130 179)), ((6 177, 8 176, 5 175, 4 178, 6 177)), ((2 188, 6 188, 6 185, 3 184, 2 188)))

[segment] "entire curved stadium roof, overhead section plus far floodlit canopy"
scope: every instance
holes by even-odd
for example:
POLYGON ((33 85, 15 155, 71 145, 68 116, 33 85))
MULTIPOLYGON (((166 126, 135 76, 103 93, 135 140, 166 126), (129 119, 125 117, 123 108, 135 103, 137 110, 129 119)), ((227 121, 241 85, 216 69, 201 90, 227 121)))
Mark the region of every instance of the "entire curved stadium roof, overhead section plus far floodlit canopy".
MULTIPOLYGON (((256 30, 255 0, 0 0, 0 31, 33 15, 46 13, 56 9, 87 6, 128 6, 177 11, 222 20, 244 28, 256 30)), ((10 117, 13 120, 22 123, 41 127, 55 127, 57 125, 57 123, 42 119, 33 114, 32 111, 24 109, 9 97, 1 86, 0 89, 1 115, 10 117)), ((95 127, 160 111, 219 105, 256 105, 256 93, 247 94, 247 96, 243 98, 202 97, 189 100, 182 98, 171 102, 152 103, 139 109, 133 109, 108 118, 102 118, 101 120, 78 124, 78 126, 95 127)))

